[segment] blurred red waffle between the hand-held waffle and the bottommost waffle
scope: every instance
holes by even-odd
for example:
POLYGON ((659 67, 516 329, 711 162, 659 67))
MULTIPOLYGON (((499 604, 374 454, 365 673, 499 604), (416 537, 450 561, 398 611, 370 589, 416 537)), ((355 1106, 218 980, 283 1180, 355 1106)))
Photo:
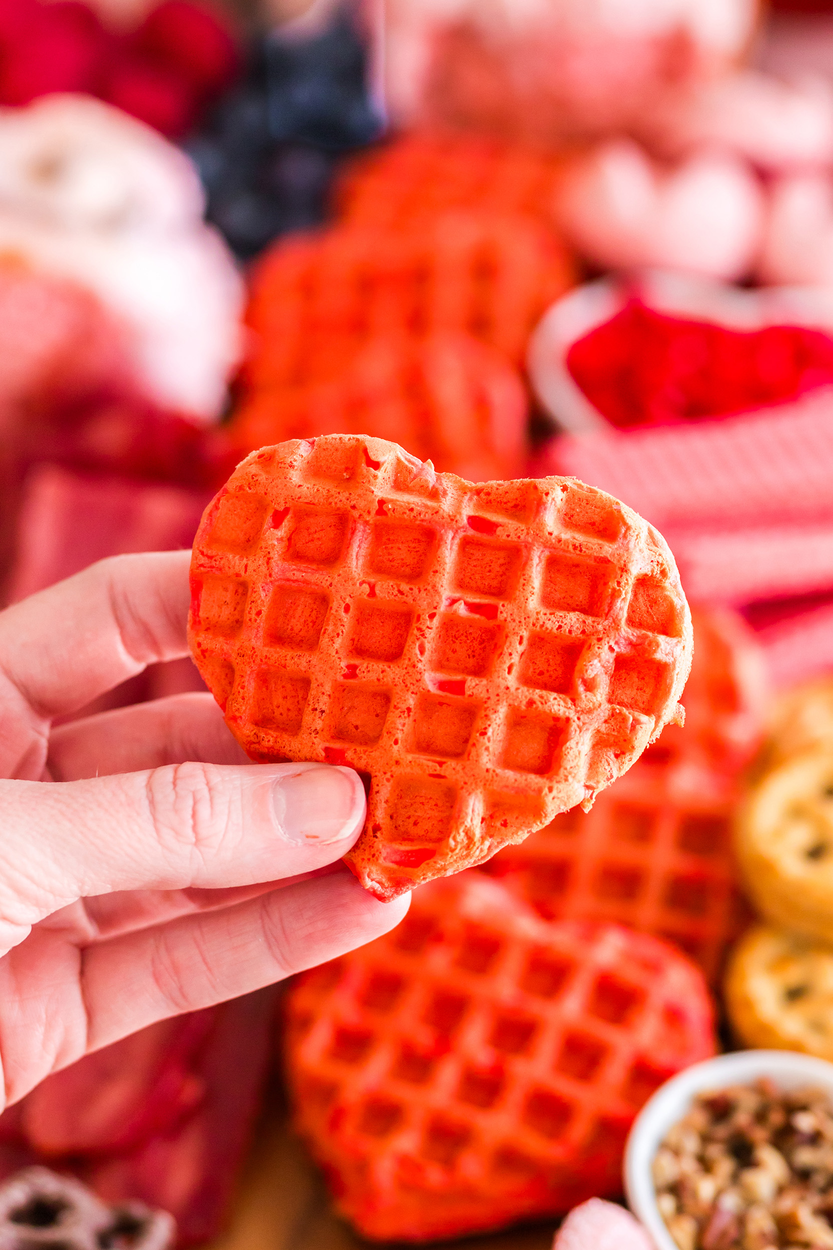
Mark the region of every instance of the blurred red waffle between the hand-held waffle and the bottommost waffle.
POLYGON ((547 920, 606 920, 676 942, 716 982, 749 921, 732 848, 737 790, 639 760, 586 815, 556 816, 486 865, 547 920))

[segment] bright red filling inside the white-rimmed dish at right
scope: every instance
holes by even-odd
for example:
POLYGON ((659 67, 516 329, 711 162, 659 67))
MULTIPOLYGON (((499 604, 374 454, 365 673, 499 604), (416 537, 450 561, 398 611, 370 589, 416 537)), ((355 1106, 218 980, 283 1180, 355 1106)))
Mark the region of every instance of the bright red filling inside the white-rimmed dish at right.
POLYGON ((741 331, 631 300, 567 352, 608 421, 671 425, 786 404, 833 382, 833 339, 806 326, 741 331))

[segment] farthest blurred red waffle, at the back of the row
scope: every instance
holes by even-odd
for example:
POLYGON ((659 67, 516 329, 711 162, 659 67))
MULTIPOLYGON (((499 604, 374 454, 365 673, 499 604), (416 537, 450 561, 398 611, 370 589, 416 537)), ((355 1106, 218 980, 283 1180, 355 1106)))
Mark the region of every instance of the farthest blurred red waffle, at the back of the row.
POLYGON ((450 209, 550 222, 563 156, 492 135, 416 131, 352 160, 335 189, 342 220, 390 229, 450 209))

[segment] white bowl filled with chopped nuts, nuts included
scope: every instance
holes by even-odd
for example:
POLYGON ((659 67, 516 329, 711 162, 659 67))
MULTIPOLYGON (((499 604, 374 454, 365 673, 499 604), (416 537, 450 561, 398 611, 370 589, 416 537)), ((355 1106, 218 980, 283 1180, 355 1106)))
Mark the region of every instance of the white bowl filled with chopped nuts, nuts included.
POLYGON ((833 1064, 742 1050, 646 1102, 624 1188, 657 1250, 833 1250, 833 1064))

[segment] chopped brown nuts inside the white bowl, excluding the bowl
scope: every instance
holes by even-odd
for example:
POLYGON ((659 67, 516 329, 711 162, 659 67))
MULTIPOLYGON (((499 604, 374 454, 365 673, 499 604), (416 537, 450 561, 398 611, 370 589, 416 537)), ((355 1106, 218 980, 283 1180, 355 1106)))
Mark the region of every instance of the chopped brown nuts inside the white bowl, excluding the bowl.
POLYGON ((679 1250, 833 1250, 833 1101, 766 1079, 701 1094, 653 1182, 679 1250))

